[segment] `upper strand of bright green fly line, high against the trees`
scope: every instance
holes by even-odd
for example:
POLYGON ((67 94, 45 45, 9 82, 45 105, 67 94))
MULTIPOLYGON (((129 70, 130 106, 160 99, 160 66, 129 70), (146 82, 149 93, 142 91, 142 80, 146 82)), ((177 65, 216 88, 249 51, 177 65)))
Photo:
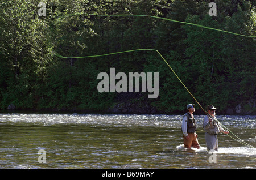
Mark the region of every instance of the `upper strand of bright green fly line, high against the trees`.
POLYGON ((151 15, 140 15, 140 14, 90 14, 90 13, 85 13, 85 12, 81 12, 81 13, 77 12, 77 13, 73 13, 73 14, 67 14, 67 15, 60 16, 60 17, 57 18, 57 19, 65 18, 65 17, 67 17, 67 16, 74 16, 74 15, 92 15, 92 16, 141 16, 141 17, 147 17, 147 18, 158 18, 158 19, 168 20, 168 21, 176 22, 176 23, 183 23, 183 24, 195 25, 195 26, 200 27, 200 28, 205 28, 205 29, 211 29, 211 30, 214 30, 214 31, 220 31, 220 32, 230 33, 230 34, 237 35, 237 36, 256 37, 256 36, 242 35, 242 34, 239 34, 239 33, 234 33, 234 32, 230 32, 230 31, 225 31, 225 30, 222 30, 222 29, 211 28, 211 27, 207 27, 207 26, 200 25, 200 24, 195 24, 195 23, 181 22, 181 21, 179 21, 179 20, 174 20, 174 19, 162 18, 162 17, 158 17, 158 16, 151 16, 151 15))

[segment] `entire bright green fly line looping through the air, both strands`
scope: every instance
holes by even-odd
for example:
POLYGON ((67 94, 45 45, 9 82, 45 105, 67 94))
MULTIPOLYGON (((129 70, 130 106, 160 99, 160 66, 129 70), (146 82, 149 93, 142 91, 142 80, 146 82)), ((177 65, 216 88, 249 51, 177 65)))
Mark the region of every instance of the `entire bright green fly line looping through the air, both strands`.
MULTIPOLYGON (((181 22, 181 21, 177 21, 177 20, 173 20, 173 19, 168 19, 168 18, 162 18, 162 17, 158 17, 158 16, 150 16, 150 15, 128 15, 128 14, 115 14, 115 15, 100 15, 100 14, 88 14, 88 13, 75 13, 75 14, 68 14, 68 15, 64 15, 64 16, 61 16, 60 18, 65 18, 67 16, 73 16, 73 15, 93 15, 93 16, 144 16, 144 17, 148 17, 148 18, 158 18, 158 19, 164 19, 164 20, 169 20, 169 21, 172 21, 172 22, 176 22, 176 23, 183 23, 183 24, 189 24, 189 25, 195 25, 197 27, 201 27, 201 28, 206 28, 206 29, 211 29, 213 31, 220 31, 220 32, 225 32, 225 33, 230 33, 230 34, 233 34, 233 35, 237 35, 237 36, 243 36, 243 37, 256 37, 256 36, 247 36, 247 35, 241 35, 241 34, 238 34, 238 33, 234 33, 234 32, 229 32, 229 31, 224 31, 224 30, 221 30, 221 29, 215 29, 215 28, 210 28, 210 27, 206 27, 204 25, 199 25, 199 24, 194 24, 194 23, 188 23, 188 22, 181 22)), ((58 18, 58 19, 60 19, 58 18)), ((163 59, 164 62, 166 62, 167 66, 170 67, 171 71, 175 74, 175 76, 177 77, 177 79, 179 79, 180 83, 185 87, 185 89, 187 89, 188 93, 193 97, 193 99, 197 102, 197 104, 200 106, 201 109, 203 109, 203 111, 209 115, 209 117, 212 117, 212 115, 210 115, 206 110, 204 110, 204 108, 200 105, 200 103, 196 100, 196 98, 192 95, 192 93, 188 90, 188 88, 185 86, 185 84, 180 80, 179 76, 177 76, 176 72, 172 69, 172 67, 169 65, 169 63, 166 61, 166 59, 164 59, 163 55, 159 53, 158 50, 156 49, 134 49, 134 50, 126 50, 126 51, 122 51, 122 52, 115 52, 115 53, 109 53, 109 54, 101 54, 101 55, 88 55, 88 56, 82 56, 82 57, 64 57, 60 54, 58 54, 57 52, 54 52, 53 51, 53 54, 55 54, 57 57, 60 57, 60 58, 66 58, 66 59, 74 59, 74 58, 93 58, 93 57, 104 57, 106 55, 114 55, 114 54, 121 54, 121 53, 129 53, 129 52, 136 52, 136 51, 154 51, 154 52, 157 52, 160 57, 163 59)), ((213 117, 212 117, 213 118, 213 117)), ((213 118, 214 119, 214 118, 213 118)), ((222 123, 220 122, 221 126, 224 127, 225 130, 228 130, 232 135, 234 135, 236 138, 233 138, 232 136, 230 136, 229 134, 226 134, 228 135, 230 138, 236 140, 237 142, 243 144, 243 145, 246 145, 247 147, 250 147, 250 148, 254 148, 252 145, 246 143, 244 140, 240 139, 237 135, 235 135, 232 131, 230 131, 227 127, 225 127, 224 125, 222 125, 222 123)))

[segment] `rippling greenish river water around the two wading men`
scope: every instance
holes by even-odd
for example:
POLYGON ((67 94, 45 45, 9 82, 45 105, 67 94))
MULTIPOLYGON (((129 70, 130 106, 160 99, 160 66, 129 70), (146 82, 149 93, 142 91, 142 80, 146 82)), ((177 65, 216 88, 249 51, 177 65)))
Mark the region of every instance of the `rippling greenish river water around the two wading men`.
MULTIPOLYGON (((207 151, 204 115, 195 115, 201 149, 186 151, 181 118, 0 113, 0 168, 256 168, 256 149, 225 134, 218 135, 216 154, 207 151), (41 149, 43 154, 38 153, 41 149), (210 163, 209 158, 215 161, 210 163)), ((256 147, 256 116, 217 118, 256 147)))

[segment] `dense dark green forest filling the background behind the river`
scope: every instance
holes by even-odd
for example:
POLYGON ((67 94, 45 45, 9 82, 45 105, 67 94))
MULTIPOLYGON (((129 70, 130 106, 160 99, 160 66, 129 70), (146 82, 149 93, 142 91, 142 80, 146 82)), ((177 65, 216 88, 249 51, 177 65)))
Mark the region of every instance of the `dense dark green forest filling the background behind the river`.
POLYGON ((0 2, 0 109, 14 104, 16 109, 104 112, 124 102, 122 93, 97 91, 98 73, 115 67, 125 73, 159 72, 159 97, 127 93, 129 103, 184 112, 195 101, 154 52, 72 59, 53 53, 81 57, 148 48, 159 50, 201 105, 225 112, 242 104, 256 112, 255 38, 154 18, 71 15, 153 15, 256 36, 255 1, 213 1, 217 16, 208 14, 211 1, 200 0, 50 0, 46 16, 38 15, 39 2, 0 2))

